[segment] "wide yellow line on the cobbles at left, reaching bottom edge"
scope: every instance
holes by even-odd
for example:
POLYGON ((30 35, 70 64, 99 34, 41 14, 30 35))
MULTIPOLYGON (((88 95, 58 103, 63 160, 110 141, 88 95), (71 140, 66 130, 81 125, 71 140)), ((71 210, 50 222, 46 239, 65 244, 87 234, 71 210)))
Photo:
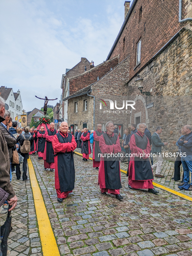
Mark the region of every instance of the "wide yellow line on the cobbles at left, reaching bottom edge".
POLYGON ((60 256, 58 246, 51 228, 51 223, 45 208, 43 196, 37 182, 32 161, 28 159, 29 175, 32 186, 37 222, 41 238, 42 250, 44 256, 60 256))

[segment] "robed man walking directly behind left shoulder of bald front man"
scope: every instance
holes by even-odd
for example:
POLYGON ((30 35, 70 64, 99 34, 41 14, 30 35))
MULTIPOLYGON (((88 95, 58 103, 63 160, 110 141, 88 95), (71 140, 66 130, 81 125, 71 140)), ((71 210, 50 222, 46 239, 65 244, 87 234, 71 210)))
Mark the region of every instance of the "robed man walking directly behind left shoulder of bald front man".
POLYGON ((54 129, 54 123, 50 123, 50 128, 45 131, 45 150, 43 154, 44 160, 44 169, 50 168, 50 171, 54 171, 54 150, 52 146, 53 136, 57 133, 57 130, 54 129))

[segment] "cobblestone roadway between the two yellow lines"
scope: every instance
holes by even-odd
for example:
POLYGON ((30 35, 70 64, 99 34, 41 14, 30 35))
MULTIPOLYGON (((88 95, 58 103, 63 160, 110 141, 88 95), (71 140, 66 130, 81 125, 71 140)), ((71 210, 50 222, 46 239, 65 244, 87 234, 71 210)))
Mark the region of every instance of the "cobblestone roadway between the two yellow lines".
POLYGON ((124 200, 102 195, 93 162, 75 154, 75 189, 58 203, 54 172, 31 159, 61 255, 192 255, 192 202, 161 189, 130 190, 123 173, 124 200))

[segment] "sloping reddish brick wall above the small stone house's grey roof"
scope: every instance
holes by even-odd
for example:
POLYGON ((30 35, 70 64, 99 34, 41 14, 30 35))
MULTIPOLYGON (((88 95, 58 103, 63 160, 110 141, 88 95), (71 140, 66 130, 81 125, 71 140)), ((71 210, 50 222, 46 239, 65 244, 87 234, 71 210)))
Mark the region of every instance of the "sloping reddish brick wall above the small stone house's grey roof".
POLYGON ((90 84, 95 83, 97 81, 97 76, 100 79, 107 74, 111 68, 117 66, 118 63, 119 59, 118 57, 115 57, 109 61, 101 63, 100 65, 84 72, 77 77, 70 78, 70 95, 90 84))

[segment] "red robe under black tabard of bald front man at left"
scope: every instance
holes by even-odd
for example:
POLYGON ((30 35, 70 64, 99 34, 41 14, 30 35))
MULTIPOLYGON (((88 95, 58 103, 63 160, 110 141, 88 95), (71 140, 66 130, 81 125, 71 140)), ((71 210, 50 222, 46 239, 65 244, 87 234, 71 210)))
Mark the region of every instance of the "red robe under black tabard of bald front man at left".
MULTIPOLYGON (((64 135, 61 132, 60 134, 64 137, 64 135)), ((67 137, 68 137, 68 133, 67 133, 67 137)), ((57 135, 54 135, 52 140, 52 145, 54 149, 54 155, 58 152, 62 152, 62 153, 71 152, 77 147, 77 143, 75 141, 74 136, 72 136, 71 143, 70 142, 60 143, 58 141, 57 135)), ((61 192, 59 178, 58 178, 58 156, 56 155, 54 156, 54 158, 55 158, 55 189, 57 191, 57 196, 58 198, 66 198, 68 194, 72 192, 72 190, 61 192)))

